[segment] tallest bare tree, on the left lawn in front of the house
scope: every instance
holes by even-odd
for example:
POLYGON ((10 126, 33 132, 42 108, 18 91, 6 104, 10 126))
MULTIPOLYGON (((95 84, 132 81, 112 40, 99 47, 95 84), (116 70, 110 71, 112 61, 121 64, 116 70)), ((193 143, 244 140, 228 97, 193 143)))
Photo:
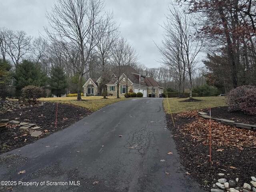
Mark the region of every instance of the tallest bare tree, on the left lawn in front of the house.
POLYGON ((72 47, 71 50, 79 53, 79 62, 73 63, 79 74, 78 100, 81 100, 82 78, 94 58, 93 50, 98 43, 96 31, 102 22, 103 8, 101 0, 56 0, 52 12, 46 14, 52 29, 45 28, 49 38, 58 38, 66 52, 72 47))

